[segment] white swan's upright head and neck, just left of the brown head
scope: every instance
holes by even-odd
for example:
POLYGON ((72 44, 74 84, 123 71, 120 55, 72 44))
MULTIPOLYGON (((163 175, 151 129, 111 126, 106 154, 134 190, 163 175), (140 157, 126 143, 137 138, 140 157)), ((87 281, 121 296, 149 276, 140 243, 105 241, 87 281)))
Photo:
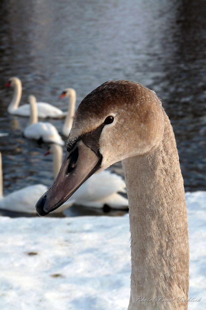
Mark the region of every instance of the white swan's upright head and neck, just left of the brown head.
POLYGON ((59 96, 59 98, 63 98, 65 96, 69 98, 69 104, 68 104, 67 116, 65 118, 64 125, 62 127, 62 134, 68 138, 68 135, 72 127, 73 118, 75 115, 76 92, 73 88, 66 88, 62 92, 62 95, 59 96))

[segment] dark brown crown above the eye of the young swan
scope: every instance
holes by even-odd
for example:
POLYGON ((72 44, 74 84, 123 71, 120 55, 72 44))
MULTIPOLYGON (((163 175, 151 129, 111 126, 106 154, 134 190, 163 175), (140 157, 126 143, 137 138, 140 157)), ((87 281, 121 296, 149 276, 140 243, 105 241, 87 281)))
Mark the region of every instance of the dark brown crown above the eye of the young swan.
POLYGON ((69 140, 95 130, 109 115, 117 115, 121 123, 148 120, 150 107, 161 105, 156 94, 136 82, 108 81, 89 93, 79 104, 69 140))

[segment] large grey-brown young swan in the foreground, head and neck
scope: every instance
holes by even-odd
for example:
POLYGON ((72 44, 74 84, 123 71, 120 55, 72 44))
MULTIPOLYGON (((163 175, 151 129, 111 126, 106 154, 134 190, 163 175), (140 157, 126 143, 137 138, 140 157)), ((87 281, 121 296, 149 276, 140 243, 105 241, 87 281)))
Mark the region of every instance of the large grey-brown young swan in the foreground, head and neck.
POLYGON ((61 170, 38 201, 39 215, 61 206, 93 173, 122 160, 129 199, 129 310, 186 310, 188 225, 174 133, 156 94, 108 81, 80 103, 61 170), (139 301, 139 296, 150 301, 139 301), (163 296, 167 302, 151 301, 163 296), (178 302, 178 297, 186 301, 178 302))

